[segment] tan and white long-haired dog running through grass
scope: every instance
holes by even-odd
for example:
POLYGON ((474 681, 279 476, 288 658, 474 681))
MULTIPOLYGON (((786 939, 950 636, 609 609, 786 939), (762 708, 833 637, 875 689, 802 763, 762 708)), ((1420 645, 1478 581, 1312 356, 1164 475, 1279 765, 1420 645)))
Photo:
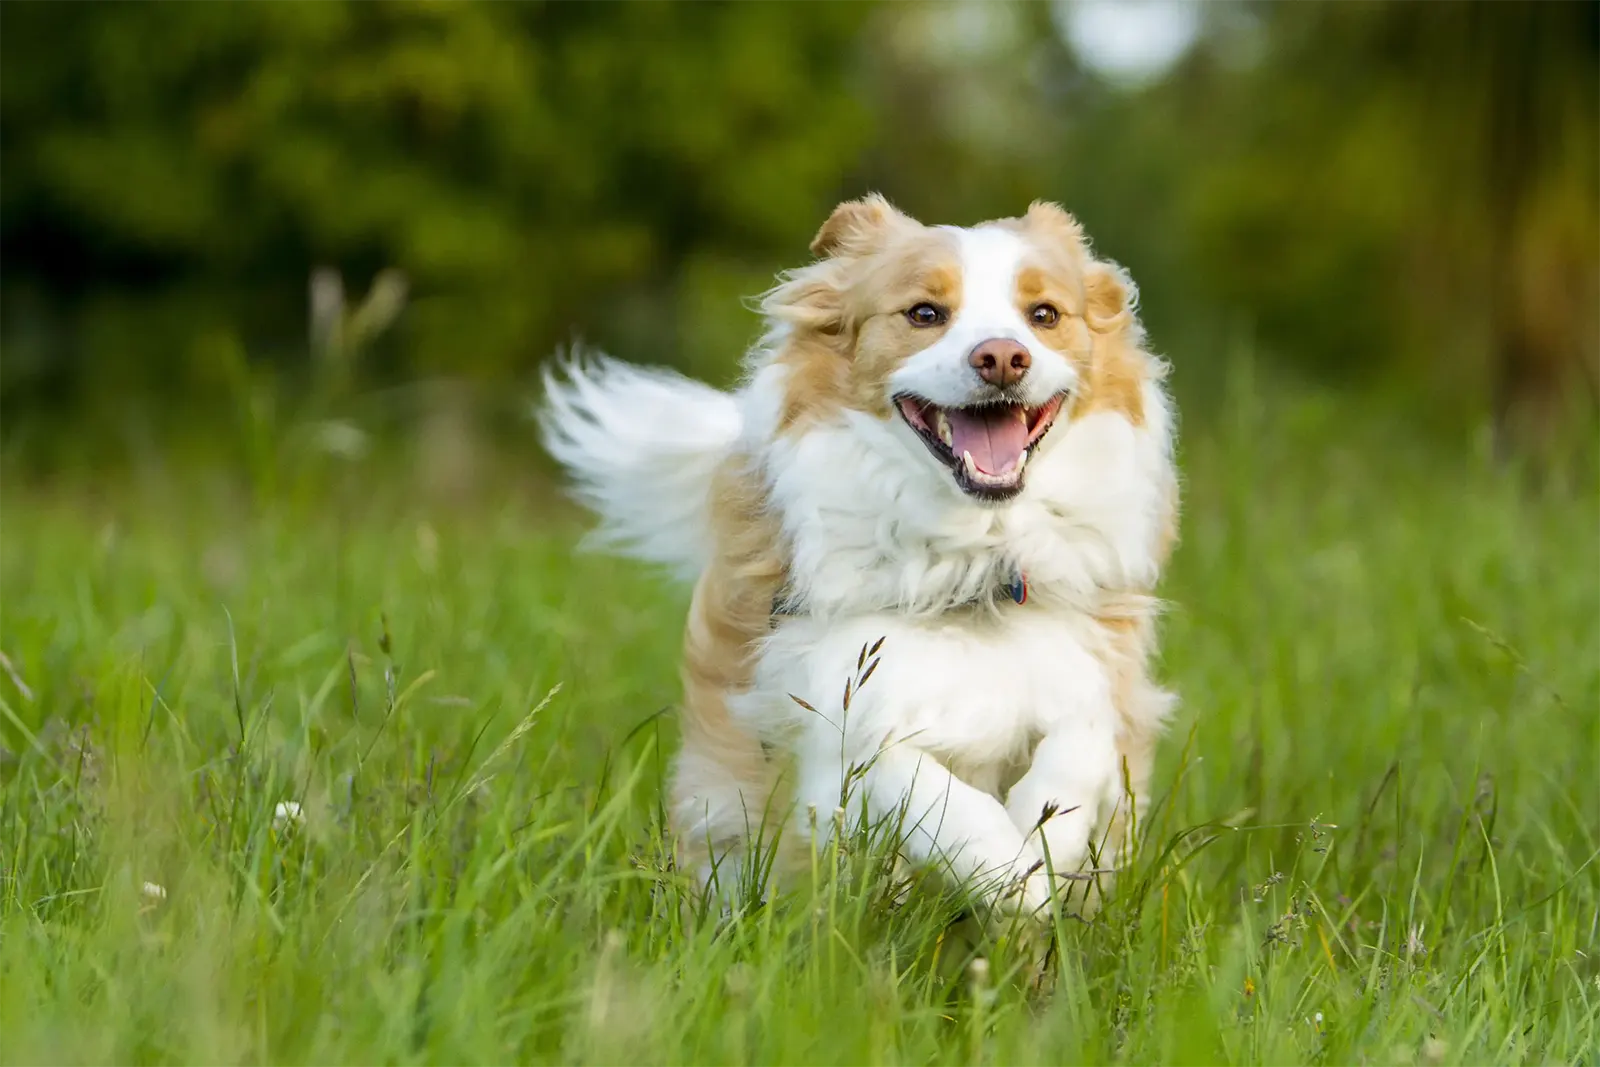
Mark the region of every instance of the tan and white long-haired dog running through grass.
POLYGON ((904 859, 1038 912, 1126 856, 1174 702, 1166 363, 1051 203, 954 227, 870 195, 811 251, 731 394, 603 355, 546 374, 600 544, 694 582, 680 861, 742 883, 774 824, 826 838, 864 803, 904 859))

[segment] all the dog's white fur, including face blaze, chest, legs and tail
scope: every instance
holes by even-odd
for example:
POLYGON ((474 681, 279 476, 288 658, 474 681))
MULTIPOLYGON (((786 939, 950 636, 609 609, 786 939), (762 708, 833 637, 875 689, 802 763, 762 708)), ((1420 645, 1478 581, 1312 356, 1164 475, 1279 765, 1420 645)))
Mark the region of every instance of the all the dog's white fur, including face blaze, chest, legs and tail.
MULTIPOLYGON (((997 336, 1029 346, 1032 403, 1072 387, 1070 362, 1014 307, 1022 240, 995 227, 958 234, 963 306, 944 338, 893 376, 891 394, 968 402, 978 381, 966 354, 997 336)), ((613 536, 675 563, 701 555, 696 517, 710 470, 731 451, 747 456, 787 542, 795 614, 776 621, 754 683, 728 704, 744 728, 795 757, 797 817, 832 813, 859 781, 856 798, 874 817, 904 821, 914 861, 995 877, 1037 905, 1048 893, 1045 849, 1058 870, 1082 865, 1125 800, 1117 731, 1126 723, 1093 613, 1107 590, 1146 590, 1157 577, 1176 477, 1165 392, 1158 381, 1146 387, 1138 427, 1115 413, 1064 414, 1029 461, 1022 493, 981 502, 899 419, 840 411, 779 434, 787 370, 771 357, 786 330, 774 325, 752 352, 736 397, 614 363, 579 374, 552 390, 552 451, 613 536), (645 403, 667 414, 646 421, 645 403), (971 605, 1018 571, 1026 605, 971 605), (843 683, 878 638, 882 662, 846 712, 843 683), (1050 809, 1058 814, 1040 825, 1050 809)), ((1168 704, 1150 686, 1123 713, 1154 728, 1168 704)), ((712 838, 765 817, 710 805, 709 793, 706 809, 728 813, 726 827, 701 827, 712 838)), ((832 819, 816 825, 826 833, 832 819)))

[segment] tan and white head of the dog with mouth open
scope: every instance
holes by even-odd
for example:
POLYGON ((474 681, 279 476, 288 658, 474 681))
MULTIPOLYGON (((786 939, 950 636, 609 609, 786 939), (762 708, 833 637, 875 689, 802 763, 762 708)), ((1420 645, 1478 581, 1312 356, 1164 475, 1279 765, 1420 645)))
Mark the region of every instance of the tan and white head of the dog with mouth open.
POLYGON ((842 203, 811 251, 763 302, 789 370, 779 432, 864 413, 920 442, 968 498, 1003 502, 1058 422, 1091 406, 1139 419, 1130 283, 1061 208, 930 227, 867 197, 842 203))

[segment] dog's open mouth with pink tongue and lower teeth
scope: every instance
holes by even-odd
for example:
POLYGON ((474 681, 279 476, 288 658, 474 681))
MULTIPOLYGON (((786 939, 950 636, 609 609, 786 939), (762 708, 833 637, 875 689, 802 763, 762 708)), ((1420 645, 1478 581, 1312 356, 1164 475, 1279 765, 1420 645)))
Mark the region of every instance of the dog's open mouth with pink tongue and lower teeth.
POLYGON ((917 437, 968 496, 1005 501, 1022 491, 1027 458, 1054 426, 1066 394, 1037 408, 1019 403, 986 403, 941 408, 922 397, 896 397, 894 406, 917 437))

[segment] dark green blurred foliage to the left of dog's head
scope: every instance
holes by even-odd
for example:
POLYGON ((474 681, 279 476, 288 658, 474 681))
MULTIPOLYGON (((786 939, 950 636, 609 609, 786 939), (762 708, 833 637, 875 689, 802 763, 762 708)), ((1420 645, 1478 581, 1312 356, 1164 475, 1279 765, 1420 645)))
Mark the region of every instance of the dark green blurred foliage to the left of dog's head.
MULTIPOLYGON (((690 253, 803 246, 867 133, 859 0, 8 0, 0 288, 21 378, 304 349, 312 267, 411 282, 410 371, 506 374, 690 253), (24 374, 24 368, 27 374, 24 374)), ((658 323, 670 347, 670 322, 658 323)), ((6 384, 0 373, 0 386, 6 384)))

